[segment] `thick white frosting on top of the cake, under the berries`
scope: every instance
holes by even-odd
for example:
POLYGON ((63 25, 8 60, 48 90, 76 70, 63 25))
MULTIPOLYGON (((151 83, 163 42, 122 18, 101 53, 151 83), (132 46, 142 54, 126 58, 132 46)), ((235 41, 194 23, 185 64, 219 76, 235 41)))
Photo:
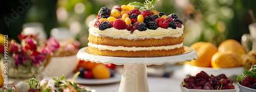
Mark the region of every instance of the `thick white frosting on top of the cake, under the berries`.
POLYGON ((146 31, 139 31, 135 30, 133 34, 131 31, 128 30, 117 30, 115 28, 110 28, 106 30, 99 30, 98 28, 94 27, 96 19, 91 21, 89 24, 89 33, 94 36, 108 36, 113 38, 124 38, 124 39, 146 39, 146 38, 156 38, 161 39, 163 37, 180 37, 183 34, 184 26, 182 25, 181 28, 157 28, 156 30, 147 29, 146 31))

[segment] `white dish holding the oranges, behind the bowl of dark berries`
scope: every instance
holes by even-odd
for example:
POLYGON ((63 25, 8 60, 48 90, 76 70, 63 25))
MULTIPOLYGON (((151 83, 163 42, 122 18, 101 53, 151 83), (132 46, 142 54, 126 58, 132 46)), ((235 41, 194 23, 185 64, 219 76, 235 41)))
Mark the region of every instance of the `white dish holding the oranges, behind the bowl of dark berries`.
POLYGON ((208 75, 220 75, 225 74, 230 80, 236 81, 237 76, 241 75, 243 72, 243 67, 231 67, 231 68, 212 68, 212 67, 198 67, 192 66, 186 63, 183 67, 185 74, 196 76, 201 71, 206 72, 208 75))

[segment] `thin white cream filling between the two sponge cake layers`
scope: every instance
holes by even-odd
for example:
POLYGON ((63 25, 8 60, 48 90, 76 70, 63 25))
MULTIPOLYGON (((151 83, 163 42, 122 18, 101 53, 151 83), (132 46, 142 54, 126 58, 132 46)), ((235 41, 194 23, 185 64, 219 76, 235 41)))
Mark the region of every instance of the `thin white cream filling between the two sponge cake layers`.
POLYGON ((123 50, 123 51, 172 50, 175 48, 183 47, 183 43, 175 44, 175 45, 168 45, 168 46, 160 46, 160 47, 123 47, 123 46, 112 47, 110 45, 93 44, 91 42, 89 42, 88 45, 90 47, 97 48, 99 50, 111 50, 111 51, 117 51, 117 50, 123 50))

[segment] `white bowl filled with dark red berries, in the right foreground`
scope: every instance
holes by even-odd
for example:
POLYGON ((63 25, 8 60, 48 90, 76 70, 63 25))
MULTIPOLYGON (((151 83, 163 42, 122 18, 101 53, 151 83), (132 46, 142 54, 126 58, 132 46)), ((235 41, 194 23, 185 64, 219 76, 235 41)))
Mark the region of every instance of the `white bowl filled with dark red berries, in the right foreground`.
POLYGON ((187 89, 183 87, 182 84, 180 85, 182 92, 236 92, 237 89, 226 89, 226 90, 204 90, 204 89, 187 89))

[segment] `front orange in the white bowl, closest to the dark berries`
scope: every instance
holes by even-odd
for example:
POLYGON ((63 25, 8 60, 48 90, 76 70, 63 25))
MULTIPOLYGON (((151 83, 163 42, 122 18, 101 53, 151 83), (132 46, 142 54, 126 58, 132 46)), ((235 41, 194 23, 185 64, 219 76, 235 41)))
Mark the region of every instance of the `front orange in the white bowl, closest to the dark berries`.
POLYGON ((217 52, 211 58, 211 66, 217 68, 237 67, 242 65, 241 57, 232 51, 217 52))

